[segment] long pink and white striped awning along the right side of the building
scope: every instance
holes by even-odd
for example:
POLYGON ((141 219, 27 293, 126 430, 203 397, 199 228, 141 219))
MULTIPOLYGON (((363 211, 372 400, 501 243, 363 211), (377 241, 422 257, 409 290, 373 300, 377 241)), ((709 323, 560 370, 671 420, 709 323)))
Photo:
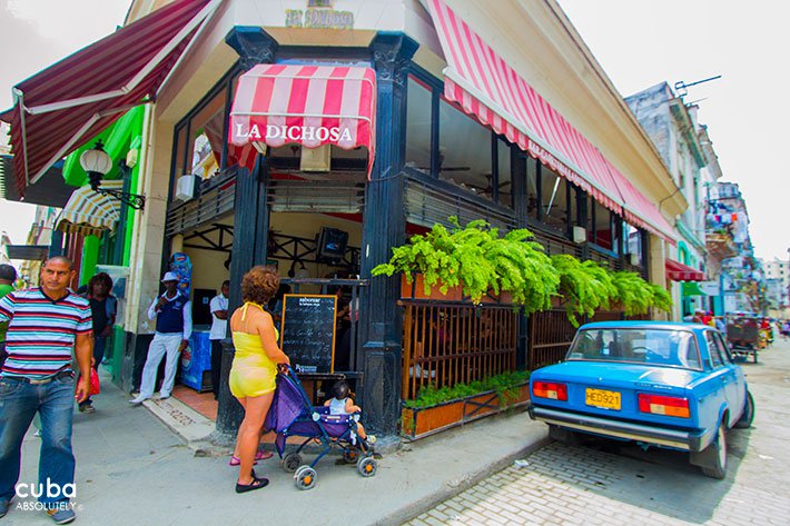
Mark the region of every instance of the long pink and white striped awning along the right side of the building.
POLYGON ((451 10, 428 0, 447 61, 444 95, 631 224, 674 242, 669 221, 556 109, 451 10), (623 188, 624 187, 624 188, 623 188))

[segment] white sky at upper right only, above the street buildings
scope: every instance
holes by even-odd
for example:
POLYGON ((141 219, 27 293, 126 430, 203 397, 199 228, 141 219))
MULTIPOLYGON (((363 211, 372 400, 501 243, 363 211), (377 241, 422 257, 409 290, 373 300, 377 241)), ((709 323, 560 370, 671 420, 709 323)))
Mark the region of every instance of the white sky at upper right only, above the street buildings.
POLYGON ((788 259, 790 2, 559 0, 623 97, 691 83, 723 179, 745 198, 757 256, 788 259))

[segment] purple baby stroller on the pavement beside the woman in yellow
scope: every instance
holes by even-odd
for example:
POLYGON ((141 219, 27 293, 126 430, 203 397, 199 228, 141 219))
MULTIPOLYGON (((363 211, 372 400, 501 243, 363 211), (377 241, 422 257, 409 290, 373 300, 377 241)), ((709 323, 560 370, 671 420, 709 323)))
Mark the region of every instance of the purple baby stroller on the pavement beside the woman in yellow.
POLYGON ((266 417, 266 429, 277 434, 275 447, 286 473, 294 474, 299 489, 312 489, 316 484, 315 466, 332 451, 343 451, 347 464, 356 463, 363 477, 373 477, 378 469, 373 449, 365 445, 356 433, 359 414, 330 415, 328 407, 314 407, 290 367, 284 367, 277 375, 277 391, 271 409, 266 417), (304 437, 295 451, 285 453, 288 437, 304 437), (303 464, 302 450, 310 443, 319 443, 318 456, 310 464, 303 464))

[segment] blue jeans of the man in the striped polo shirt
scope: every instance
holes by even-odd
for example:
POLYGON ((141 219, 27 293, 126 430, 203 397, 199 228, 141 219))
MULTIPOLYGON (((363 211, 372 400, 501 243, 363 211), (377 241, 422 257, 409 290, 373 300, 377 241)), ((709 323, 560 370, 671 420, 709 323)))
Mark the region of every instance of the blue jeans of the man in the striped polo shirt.
MULTIPOLYGON (((68 500, 62 495, 47 496, 50 486, 61 492, 75 482, 75 456, 71 453, 71 419, 75 404, 75 379, 55 379, 48 384, 0 378, 0 500, 10 500, 19 482, 22 438, 39 411, 41 415, 41 453, 39 486, 45 490, 39 502, 51 505, 68 500)), ((33 480, 23 480, 29 488, 33 480)), ((38 493, 38 488, 37 492, 38 493)), ((55 492, 53 492, 55 493, 55 492)))

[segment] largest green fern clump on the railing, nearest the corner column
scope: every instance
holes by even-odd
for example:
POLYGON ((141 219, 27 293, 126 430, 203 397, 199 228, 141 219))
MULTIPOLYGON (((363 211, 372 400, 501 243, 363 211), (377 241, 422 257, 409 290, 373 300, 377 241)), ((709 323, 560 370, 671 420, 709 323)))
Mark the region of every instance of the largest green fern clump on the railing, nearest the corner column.
POLYGON ((498 229, 484 220, 470 221, 448 231, 442 225, 425 235, 393 249, 387 264, 373 269, 373 276, 403 272, 411 284, 415 274, 423 275, 425 294, 438 284, 446 294, 450 287, 462 286, 463 294, 478 304, 488 290, 510 291, 513 304, 527 314, 546 309, 560 285, 560 276, 544 254, 543 247, 530 239, 532 232, 519 229, 500 237, 498 229))

